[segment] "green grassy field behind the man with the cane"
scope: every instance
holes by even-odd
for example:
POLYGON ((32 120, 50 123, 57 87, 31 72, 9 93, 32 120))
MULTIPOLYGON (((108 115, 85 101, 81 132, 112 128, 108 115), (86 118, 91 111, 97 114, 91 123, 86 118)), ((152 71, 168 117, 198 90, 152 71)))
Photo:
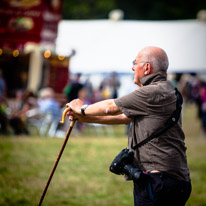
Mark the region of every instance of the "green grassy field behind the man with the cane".
MULTIPOLYGON (((206 137, 193 105, 184 108, 188 164, 193 190, 187 206, 206 205, 206 137)), ((125 127, 114 136, 72 133, 52 178, 47 206, 131 206, 131 182, 109 172, 116 154, 127 145, 125 127)), ((0 138, 0 206, 37 205, 63 139, 43 137, 0 138)))

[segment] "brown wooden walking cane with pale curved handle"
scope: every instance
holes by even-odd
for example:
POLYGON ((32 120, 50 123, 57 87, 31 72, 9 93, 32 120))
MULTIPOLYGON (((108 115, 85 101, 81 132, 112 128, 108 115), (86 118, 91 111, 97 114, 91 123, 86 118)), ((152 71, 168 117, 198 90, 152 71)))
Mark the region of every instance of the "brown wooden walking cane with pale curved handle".
MULTIPOLYGON (((67 113, 68 111, 70 111, 70 110, 71 110, 71 109, 70 109, 69 107, 67 107, 67 108, 64 110, 64 112, 63 112, 63 114, 62 114, 62 121, 60 121, 60 123, 64 123, 66 113, 67 113)), ((73 120, 73 121, 70 123, 69 129, 67 130, 67 133, 66 133, 64 142, 63 142, 63 144, 62 144, 61 150, 59 151, 59 154, 58 154, 58 156, 57 156, 57 159, 56 159, 56 161, 55 161, 55 163, 54 163, 54 166, 53 166, 53 168, 52 168, 52 170, 51 170, 51 173, 50 173, 50 175, 49 175, 49 178, 48 178, 48 180, 47 180, 47 183, 46 183, 46 185, 45 185, 45 187, 44 187, 44 191, 42 192, 42 195, 41 195, 41 198, 40 198, 40 200, 39 200, 38 206, 40 206, 40 205, 42 204, 42 202, 43 202, 44 196, 45 196, 46 191, 47 191, 47 189, 48 189, 48 187, 49 187, 49 184, 50 184, 50 182, 51 182, 51 179, 52 179, 52 177, 53 177, 53 174, 54 174, 54 172, 55 172, 55 170, 56 170, 56 167, 57 167, 57 165, 58 165, 58 162, 59 162, 59 160, 60 160, 60 158, 61 158, 61 155, 62 155, 62 153, 63 153, 63 151, 64 151, 64 148, 65 148, 65 146, 66 146, 66 144, 67 144, 67 141, 68 141, 68 139, 69 139, 70 133, 71 133, 73 127, 74 127, 74 124, 75 124, 75 120, 73 120)))

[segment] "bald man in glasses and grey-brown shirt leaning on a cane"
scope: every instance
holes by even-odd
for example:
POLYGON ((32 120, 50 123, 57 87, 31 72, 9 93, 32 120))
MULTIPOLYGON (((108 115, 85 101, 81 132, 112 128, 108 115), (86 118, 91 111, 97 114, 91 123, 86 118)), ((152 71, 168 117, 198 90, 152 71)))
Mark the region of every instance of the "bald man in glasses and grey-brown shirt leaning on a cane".
MULTIPOLYGON (((168 57, 159 47, 142 49, 133 62, 134 83, 139 89, 117 99, 89 106, 80 100, 67 105, 70 120, 101 124, 131 122, 128 147, 162 128, 176 109, 177 96, 167 81, 168 57)), ((139 205, 185 205, 191 193, 186 147, 181 120, 159 137, 135 149, 134 164, 148 178, 134 182, 134 203, 139 205)))

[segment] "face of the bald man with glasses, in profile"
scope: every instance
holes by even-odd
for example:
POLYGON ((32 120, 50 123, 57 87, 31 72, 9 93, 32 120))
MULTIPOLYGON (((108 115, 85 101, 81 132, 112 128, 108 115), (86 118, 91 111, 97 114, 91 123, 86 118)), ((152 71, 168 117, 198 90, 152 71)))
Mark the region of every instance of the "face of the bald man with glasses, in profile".
POLYGON ((141 58, 137 58, 133 61, 132 70, 134 71, 134 83, 138 86, 142 86, 140 79, 145 76, 144 66, 147 62, 141 61, 141 58))

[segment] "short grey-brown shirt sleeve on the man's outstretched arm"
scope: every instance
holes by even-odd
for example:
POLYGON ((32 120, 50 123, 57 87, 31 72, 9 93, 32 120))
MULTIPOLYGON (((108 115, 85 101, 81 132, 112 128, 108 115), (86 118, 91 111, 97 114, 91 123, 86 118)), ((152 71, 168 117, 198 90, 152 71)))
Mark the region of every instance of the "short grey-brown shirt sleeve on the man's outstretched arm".
POLYGON ((141 88, 115 99, 114 102, 128 118, 148 115, 147 94, 141 88))

